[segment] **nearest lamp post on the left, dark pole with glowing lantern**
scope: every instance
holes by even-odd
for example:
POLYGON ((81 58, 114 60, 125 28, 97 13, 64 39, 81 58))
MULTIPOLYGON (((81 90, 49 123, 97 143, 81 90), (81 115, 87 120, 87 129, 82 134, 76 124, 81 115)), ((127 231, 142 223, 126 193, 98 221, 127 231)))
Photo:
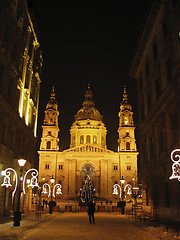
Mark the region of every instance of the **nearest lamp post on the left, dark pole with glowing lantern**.
MULTIPOLYGON (((14 211, 14 227, 20 226, 20 221, 21 221, 21 211, 20 211, 20 198, 21 198, 21 182, 22 182, 22 170, 23 166, 25 165, 26 160, 25 159, 19 159, 18 164, 20 166, 20 177, 19 177, 19 185, 18 185, 18 192, 17 192, 17 207, 14 211)), ((16 198, 15 198, 16 200, 16 198)))

